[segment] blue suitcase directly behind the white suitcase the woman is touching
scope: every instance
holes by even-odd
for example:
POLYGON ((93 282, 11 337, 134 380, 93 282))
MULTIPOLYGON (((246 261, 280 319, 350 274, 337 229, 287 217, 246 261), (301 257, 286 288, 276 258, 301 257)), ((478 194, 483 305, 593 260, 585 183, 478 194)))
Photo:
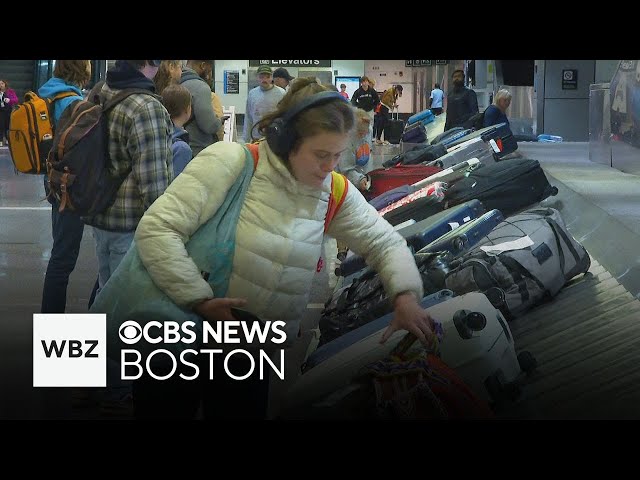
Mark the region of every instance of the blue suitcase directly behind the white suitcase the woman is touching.
MULTIPOLYGON (((420 306, 422 306, 422 308, 429 308, 433 305, 437 305, 438 303, 445 302, 450 298, 453 298, 453 296, 454 293, 451 290, 440 290, 439 292, 424 297, 420 302, 420 306)), ((387 327, 391 323, 393 315, 393 312, 388 313, 387 315, 384 315, 379 319, 374 320, 373 322, 369 322, 359 328, 356 328, 355 330, 345 333, 344 335, 330 341, 329 343, 325 343, 315 352, 309 355, 309 358, 307 358, 307 361, 302 367, 303 372, 309 371, 311 368, 321 364, 325 360, 328 360, 345 348, 350 347, 363 338, 366 338, 369 335, 372 335, 387 327)))

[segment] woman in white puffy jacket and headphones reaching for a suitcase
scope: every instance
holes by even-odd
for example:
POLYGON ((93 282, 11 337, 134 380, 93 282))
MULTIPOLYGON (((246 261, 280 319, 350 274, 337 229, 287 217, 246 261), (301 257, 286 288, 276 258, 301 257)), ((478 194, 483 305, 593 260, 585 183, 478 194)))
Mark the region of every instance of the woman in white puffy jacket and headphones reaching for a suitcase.
MULTIPOLYGON (((331 171, 349 148, 354 127, 349 103, 313 78, 296 80, 276 111, 259 123, 266 141, 259 144, 259 161, 240 211, 225 298, 214 298, 184 244, 220 207, 244 168, 246 152, 229 142, 205 148, 147 210, 136 231, 140 258, 155 284, 176 304, 208 321, 233 320, 232 307, 264 321, 282 320, 284 345, 291 346, 300 337, 321 256, 331 171)), ((326 233, 347 243, 379 272, 395 312, 382 341, 404 329, 427 344, 432 320, 418 303, 423 287, 411 251, 358 189, 350 183, 347 187, 326 233)), ((144 382, 143 388, 134 386, 134 403, 138 412, 180 417, 194 414, 202 400, 205 417, 264 418, 268 380, 254 375, 242 382, 214 377, 200 389, 179 379, 144 382)))

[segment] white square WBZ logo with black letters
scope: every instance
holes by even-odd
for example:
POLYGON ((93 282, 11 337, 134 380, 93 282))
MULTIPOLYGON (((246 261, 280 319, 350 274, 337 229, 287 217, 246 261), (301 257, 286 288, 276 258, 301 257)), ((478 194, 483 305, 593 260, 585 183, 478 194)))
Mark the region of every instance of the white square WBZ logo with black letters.
POLYGON ((34 314, 33 386, 105 387, 106 329, 105 314, 34 314))

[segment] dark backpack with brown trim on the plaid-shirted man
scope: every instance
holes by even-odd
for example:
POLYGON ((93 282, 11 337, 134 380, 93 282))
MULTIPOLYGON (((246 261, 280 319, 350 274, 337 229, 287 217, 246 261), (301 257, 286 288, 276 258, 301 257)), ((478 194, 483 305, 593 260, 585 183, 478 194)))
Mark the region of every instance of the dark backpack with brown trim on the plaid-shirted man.
POLYGON ((93 216, 113 204, 131 169, 120 176, 110 173, 107 113, 135 93, 156 96, 149 90, 125 89, 104 105, 79 100, 62 113, 47 158, 49 198, 58 201, 60 212, 93 216))

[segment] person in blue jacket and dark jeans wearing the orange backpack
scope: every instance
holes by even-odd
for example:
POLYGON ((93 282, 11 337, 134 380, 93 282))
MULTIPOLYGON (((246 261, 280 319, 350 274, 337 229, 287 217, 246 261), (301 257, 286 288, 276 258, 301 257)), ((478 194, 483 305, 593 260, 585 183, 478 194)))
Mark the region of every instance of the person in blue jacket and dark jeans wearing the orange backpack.
MULTIPOLYGON (((67 107, 82 100, 80 90, 91 79, 90 60, 58 60, 53 77, 40 87, 38 95, 52 99, 52 125, 55 128, 67 107), (62 97, 64 94, 70 94, 62 97), (59 98, 62 97, 62 98, 59 98)), ((59 211, 59 202, 49 195, 48 177, 44 178, 45 192, 51 203, 51 232, 53 247, 42 289, 42 313, 64 313, 67 304, 69 276, 76 266, 84 223, 70 210, 59 211)))

